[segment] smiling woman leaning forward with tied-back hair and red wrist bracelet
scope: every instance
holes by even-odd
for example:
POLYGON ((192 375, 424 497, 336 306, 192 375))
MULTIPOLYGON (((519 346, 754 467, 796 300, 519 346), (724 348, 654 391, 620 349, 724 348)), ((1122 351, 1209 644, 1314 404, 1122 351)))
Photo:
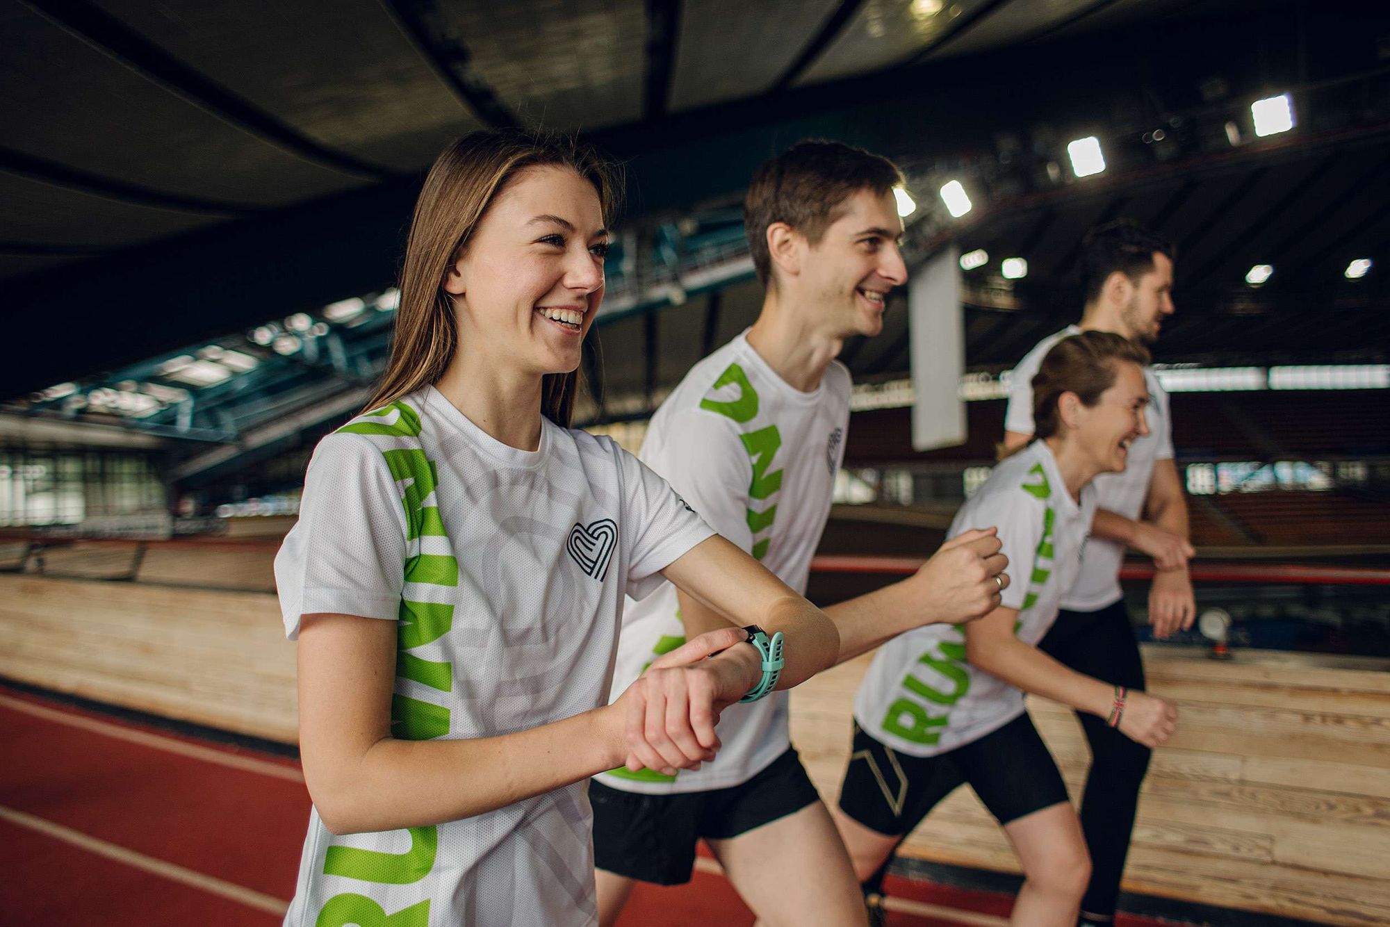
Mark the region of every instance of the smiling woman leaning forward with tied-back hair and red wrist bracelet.
POLYGON ((1001 461, 949 535, 998 525, 1015 584, 967 625, 929 625, 885 643, 855 698, 852 759, 837 824, 870 908, 898 842, 958 785, 1004 826, 1024 883, 1009 923, 1074 927, 1090 876, 1076 812, 1024 710, 1033 692, 1156 746, 1177 713, 1144 692, 1081 675, 1037 649, 1070 588, 1095 513, 1091 479, 1125 470, 1148 432, 1148 352, 1109 332, 1058 342, 1033 378, 1036 439, 1001 461))

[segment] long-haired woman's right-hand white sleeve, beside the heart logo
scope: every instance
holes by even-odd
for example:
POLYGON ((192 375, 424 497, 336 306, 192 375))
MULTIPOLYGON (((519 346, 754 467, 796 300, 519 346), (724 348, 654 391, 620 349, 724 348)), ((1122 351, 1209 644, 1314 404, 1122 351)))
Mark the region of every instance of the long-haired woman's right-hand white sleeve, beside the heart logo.
POLYGON ((623 527, 627 548, 627 589, 642 599, 666 581, 660 571, 691 548, 714 536, 714 530, 669 482, 641 460, 613 446, 623 474, 623 527))

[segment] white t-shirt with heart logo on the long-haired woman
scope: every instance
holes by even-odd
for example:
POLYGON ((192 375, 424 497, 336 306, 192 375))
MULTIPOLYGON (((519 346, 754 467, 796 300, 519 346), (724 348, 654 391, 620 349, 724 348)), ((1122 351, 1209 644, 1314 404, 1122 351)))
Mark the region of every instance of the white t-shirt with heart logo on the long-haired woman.
MULTIPOLYGON (((624 593, 712 535, 607 438, 543 421, 509 448, 430 386, 318 443, 275 581, 291 639, 303 614, 398 623, 393 737, 481 738, 605 705, 624 593)), ((373 834, 314 810, 285 924, 591 927, 591 831, 587 780, 373 834)))

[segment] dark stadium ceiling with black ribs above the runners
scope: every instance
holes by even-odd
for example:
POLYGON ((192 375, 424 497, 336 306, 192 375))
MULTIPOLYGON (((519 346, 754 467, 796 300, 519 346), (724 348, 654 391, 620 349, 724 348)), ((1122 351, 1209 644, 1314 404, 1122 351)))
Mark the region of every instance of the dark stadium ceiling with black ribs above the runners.
MULTIPOLYGON (((808 135, 899 158, 937 213, 935 185, 966 178, 976 215, 923 220, 915 245, 1037 254, 1016 285, 976 275, 972 363, 1031 343, 1001 338, 1011 299, 1038 331, 1074 315, 1048 278, 1088 222, 1123 214, 1179 239, 1180 292, 1230 309, 1227 341, 1279 304, 1302 329, 1265 324, 1275 347, 1383 354, 1387 64, 1383 4, 1337 1, 0 0, 0 397, 379 293, 434 154, 507 125, 623 158, 644 253, 660 229, 727 227, 752 168, 808 135), (1297 131, 1252 142, 1250 101, 1280 92, 1297 131), (1105 139, 1108 177, 1056 168, 1084 135, 1105 139), (1346 256, 1377 271, 1332 324, 1346 256), (1254 263, 1276 275, 1251 302, 1229 278, 1254 263)), ((662 325, 703 345, 742 302, 662 325)), ((632 368, 609 379, 651 391, 677 364, 642 360, 655 322, 606 342, 627 329, 638 350, 607 359, 632 368)), ((1204 331, 1186 353, 1227 350, 1204 331)), ((878 345, 852 346, 856 372, 901 368, 901 345, 878 345)))

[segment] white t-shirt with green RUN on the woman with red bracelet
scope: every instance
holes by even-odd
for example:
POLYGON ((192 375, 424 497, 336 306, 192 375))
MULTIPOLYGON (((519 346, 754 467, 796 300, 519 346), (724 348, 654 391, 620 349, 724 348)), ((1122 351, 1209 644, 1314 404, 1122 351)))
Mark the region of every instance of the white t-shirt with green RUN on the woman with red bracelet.
MULTIPOLYGON (((1015 634, 1037 645, 1056 620, 1080 568, 1095 514, 1095 489, 1077 503, 1047 442, 1001 461, 951 523, 948 536, 998 525, 1009 577, 1004 606, 1015 634)), ((965 631, 929 624, 884 643, 855 695, 855 721, 876 741, 912 756, 972 744, 1023 713, 1023 691, 966 662, 965 631)))

